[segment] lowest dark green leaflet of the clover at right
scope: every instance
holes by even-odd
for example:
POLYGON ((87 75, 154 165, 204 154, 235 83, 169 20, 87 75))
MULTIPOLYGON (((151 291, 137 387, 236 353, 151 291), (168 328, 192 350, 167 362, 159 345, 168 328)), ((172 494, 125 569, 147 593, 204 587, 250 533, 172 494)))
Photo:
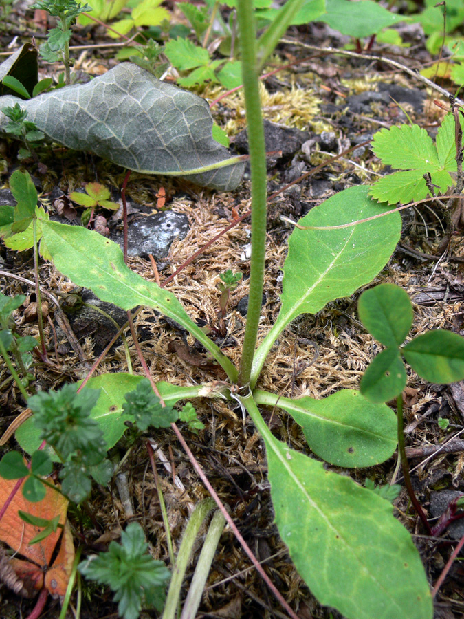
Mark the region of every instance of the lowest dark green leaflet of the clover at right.
POLYGON ((407 378, 399 349, 387 348, 373 358, 364 372, 361 393, 369 402, 388 402, 403 391, 407 378))

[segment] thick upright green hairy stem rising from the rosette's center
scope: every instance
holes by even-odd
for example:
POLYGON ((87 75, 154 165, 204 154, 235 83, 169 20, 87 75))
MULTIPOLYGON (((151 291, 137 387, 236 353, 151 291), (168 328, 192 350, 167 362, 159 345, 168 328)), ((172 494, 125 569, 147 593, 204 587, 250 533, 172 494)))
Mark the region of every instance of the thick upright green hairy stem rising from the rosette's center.
POLYGON ((265 265, 267 177, 266 149, 263 116, 259 97, 258 72, 256 69, 256 30, 254 12, 249 0, 238 0, 242 77, 247 114, 248 144, 252 171, 252 258, 250 261, 250 296, 248 298, 247 325, 243 339, 242 359, 239 370, 239 385, 250 382, 254 349, 263 300, 265 265))

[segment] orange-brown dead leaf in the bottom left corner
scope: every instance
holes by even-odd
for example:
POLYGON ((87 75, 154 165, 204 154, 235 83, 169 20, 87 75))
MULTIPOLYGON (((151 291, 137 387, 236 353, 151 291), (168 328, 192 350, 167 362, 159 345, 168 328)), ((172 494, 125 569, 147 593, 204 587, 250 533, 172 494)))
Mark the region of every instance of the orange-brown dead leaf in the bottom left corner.
MULTIPOLYGON (((52 480, 49 480, 53 484, 52 480)), ((24 484, 24 481, 23 481, 24 484)), ((25 594, 32 595, 33 591, 45 588, 55 598, 64 596, 71 574, 71 565, 74 561, 74 544, 71 529, 66 520, 68 501, 53 488, 46 488, 45 497, 38 503, 31 503, 23 497, 22 486, 8 506, 3 518, 0 520, 0 540, 8 544, 16 554, 23 558, 12 558, 10 566, 16 572, 19 580, 23 582, 25 594), (52 520, 60 517, 60 527, 45 539, 36 544, 29 542, 42 531, 34 525, 25 523, 19 518, 18 511, 27 512, 39 518, 52 520), (52 563, 52 555, 63 533, 60 550, 52 563), (23 559, 27 559, 24 561, 23 559)), ((10 496, 16 485, 16 479, 3 479, 0 477, 0 505, 3 505, 10 496)), ((1 574, 0 574, 1 578, 1 574)))

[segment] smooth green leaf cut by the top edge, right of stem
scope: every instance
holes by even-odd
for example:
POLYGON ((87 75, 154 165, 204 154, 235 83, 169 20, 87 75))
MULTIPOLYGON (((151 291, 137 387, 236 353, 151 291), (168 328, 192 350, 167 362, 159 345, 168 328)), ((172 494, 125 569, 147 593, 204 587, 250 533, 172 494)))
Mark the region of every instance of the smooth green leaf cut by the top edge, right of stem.
POLYGON ((327 13, 320 17, 320 21, 328 23, 331 28, 342 34, 355 36, 357 39, 376 34, 393 23, 405 21, 404 16, 391 13, 371 0, 360 2, 326 0, 326 7, 327 13))

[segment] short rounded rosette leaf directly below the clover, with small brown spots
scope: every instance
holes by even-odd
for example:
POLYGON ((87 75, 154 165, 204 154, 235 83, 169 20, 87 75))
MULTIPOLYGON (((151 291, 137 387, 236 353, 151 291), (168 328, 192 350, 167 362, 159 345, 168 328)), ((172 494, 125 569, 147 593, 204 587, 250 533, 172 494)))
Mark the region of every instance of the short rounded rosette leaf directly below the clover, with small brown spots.
POLYGON ((311 450, 331 464, 362 467, 384 462, 397 446, 395 413, 371 404, 359 391, 343 389, 328 398, 280 398, 255 390, 256 404, 278 406, 302 427, 311 450))

